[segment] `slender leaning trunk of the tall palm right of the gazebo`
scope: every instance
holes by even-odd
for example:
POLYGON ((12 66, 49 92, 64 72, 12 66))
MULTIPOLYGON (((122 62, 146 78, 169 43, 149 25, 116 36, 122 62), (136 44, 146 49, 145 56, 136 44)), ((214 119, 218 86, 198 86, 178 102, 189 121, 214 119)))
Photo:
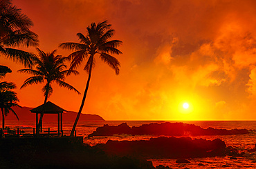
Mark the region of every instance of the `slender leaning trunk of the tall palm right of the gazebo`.
POLYGON ((89 70, 89 75, 88 75, 88 79, 87 79, 87 83, 86 83, 86 88, 84 90, 84 96, 82 98, 82 103, 81 103, 79 111, 77 112, 77 117, 75 119, 75 122, 74 122, 73 128, 71 130, 70 136, 74 136, 75 127, 76 127, 78 119, 79 119, 79 117, 81 115, 82 108, 84 107, 84 102, 85 102, 86 94, 87 94, 87 91, 88 91, 88 88, 89 88, 89 83, 90 83, 90 80, 91 80, 91 70, 92 70, 92 67, 93 67, 93 61, 91 62, 91 66, 90 66, 90 70, 89 70))

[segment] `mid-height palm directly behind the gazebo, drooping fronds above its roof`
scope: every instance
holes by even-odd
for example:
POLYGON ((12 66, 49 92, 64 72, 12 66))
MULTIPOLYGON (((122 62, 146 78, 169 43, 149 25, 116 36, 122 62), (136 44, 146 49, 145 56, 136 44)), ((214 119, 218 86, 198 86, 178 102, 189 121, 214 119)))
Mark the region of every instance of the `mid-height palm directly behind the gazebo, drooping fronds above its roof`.
MULTIPOLYGON (((18 72, 24 72, 27 74, 32 74, 33 77, 29 77, 24 81, 24 84, 21 88, 25 88, 26 86, 44 83, 46 81, 46 85, 42 88, 42 92, 44 93, 44 103, 46 103, 48 97, 53 93, 52 83, 57 83, 60 87, 68 88, 68 90, 73 90, 80 94, 78 90, 76 90, 70 84, 64 82, 66 76, 71 74, 78 74, 76 70, 64 70, 66 68, 66 64, 64 63, 68 58, 62 57, 61 55, 55 56, 55 52, 57 50, 53 50, 51 53, 45 53, 42 50, 39 50, 39 57, 35 57, 35 70, 34 69, 21 69, 18 72)), ((37 126, 42 127, 42 119, 44 113, 40 115, 40 119, 37 126)), ((39 133, 39 127, 37 128, 37 134, 39 133)))

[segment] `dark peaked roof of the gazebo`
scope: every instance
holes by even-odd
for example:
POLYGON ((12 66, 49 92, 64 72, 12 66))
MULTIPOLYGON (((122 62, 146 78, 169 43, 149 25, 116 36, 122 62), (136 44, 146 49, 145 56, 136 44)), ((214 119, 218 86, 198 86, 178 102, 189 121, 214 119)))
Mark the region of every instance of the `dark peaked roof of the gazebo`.
POLYGON ((46 114, 58 114, 58 113, 62 113, 64 111, 66 111, 66 110, 55 105, 51 101, 47 101, 47 103, 42 104, 41 106, 38 106, 37 108, 33 108, 32 110, 30 110, 30 112, 46 113, 46 114))

